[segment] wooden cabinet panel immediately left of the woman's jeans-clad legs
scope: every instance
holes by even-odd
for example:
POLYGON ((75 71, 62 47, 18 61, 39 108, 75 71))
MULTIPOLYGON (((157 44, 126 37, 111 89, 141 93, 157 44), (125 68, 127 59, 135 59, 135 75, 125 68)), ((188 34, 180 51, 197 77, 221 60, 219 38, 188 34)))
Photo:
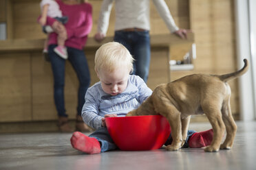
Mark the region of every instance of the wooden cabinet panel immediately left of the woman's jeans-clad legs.
POLYGON ((50 62, 41 53, 32 53, 32 112, 33 120, 56 119, 53 96, 53 77, 50 62))

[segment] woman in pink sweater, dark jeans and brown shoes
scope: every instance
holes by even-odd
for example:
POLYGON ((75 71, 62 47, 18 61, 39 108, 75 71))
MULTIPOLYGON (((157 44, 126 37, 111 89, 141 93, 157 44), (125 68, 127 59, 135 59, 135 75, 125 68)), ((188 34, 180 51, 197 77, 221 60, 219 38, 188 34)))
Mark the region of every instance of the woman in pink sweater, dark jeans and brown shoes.
MULTIPOLYGON (((76 130, 85 132, 90 128, 83 122, 81 110, 85 103, 85 93, 89 87, 90 75, 83 47, 87 41, 87 35, 92 29, 92 5, 82 0, 56 0, 56 2, 63 12, 63 16, 69 18, 65 24, 67 30, 65 47, 67 47, 69 56, 67 60, 72 64, 79 80, 76 130)), ((52 25, 54 21, 56 20, 47 18, 47 25, 52 25)), ((72 132, 72 127, 68 123, 64 101, 66 60, 54 52, 54 48, 57 46, 57 36, 56 33, 52 33, 49 35, 48 40, 48 51, 54 75, 54 102, 58 112, 59 129, 61 132, 72 132)))

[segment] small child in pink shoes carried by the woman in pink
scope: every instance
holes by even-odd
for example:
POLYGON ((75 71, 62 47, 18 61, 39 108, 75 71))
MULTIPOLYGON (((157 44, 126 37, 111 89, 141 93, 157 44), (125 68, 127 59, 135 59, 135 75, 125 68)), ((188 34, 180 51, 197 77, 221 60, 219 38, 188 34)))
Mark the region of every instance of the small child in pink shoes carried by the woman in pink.
MULTIPOLYGON (((67 40, 67 32, 63 24, 67 23, 67 16, 63 16, 58 6, 58 3, 54 0, 42 0, 41 6, 41 17, 39 23, 43 27, 43 32, 50 33, 56 32, 58 34, 58 46, 54 48, 54 52, 61 58, 67 59, 67 48, 65 47, 65 40, 67 40), (56 21, 50 26, 45 25, 47 23, 47 17, 56 19, 56 21)), ((43 52, 47 52, 47 39, 43 52)))

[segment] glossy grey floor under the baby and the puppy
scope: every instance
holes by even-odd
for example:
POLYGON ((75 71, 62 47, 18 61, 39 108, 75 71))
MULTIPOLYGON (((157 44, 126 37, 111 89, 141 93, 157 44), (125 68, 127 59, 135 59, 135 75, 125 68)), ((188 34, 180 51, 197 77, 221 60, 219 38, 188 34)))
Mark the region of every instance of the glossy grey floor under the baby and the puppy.
MULTIPOLYGON (((87 155, 72 148, 71 133, 0 134, 0 169, 255 169, 256 122, 237 125, 233 149, 215 153, 187 148, 87 155)), ((209 123, 191 123, 189 129, 209 128, 209 123)))

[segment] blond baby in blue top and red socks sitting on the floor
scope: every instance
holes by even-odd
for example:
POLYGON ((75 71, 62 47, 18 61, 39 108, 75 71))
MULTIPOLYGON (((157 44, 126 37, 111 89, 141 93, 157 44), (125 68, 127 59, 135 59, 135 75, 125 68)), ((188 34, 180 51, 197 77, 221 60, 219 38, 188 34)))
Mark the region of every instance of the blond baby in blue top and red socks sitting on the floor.
MULTIPOLYGON (((89 136, 74 132, 70 139, 74 149, 98 154, 118 148, 109 136, 105 117, 125 116, 152 93, 138 75, 130 75, 133 61, 129 51, 118 42, 108 42, 96 51, 95 71, 100 82, 88 88, 82 110, 83 120, 96 131, 89 136)), ((211 144, 212 138, 213 130, 189 130, 186 147, 204 147, 211 144)), ((165 145, 171 141, 170 135, 165 145)))

